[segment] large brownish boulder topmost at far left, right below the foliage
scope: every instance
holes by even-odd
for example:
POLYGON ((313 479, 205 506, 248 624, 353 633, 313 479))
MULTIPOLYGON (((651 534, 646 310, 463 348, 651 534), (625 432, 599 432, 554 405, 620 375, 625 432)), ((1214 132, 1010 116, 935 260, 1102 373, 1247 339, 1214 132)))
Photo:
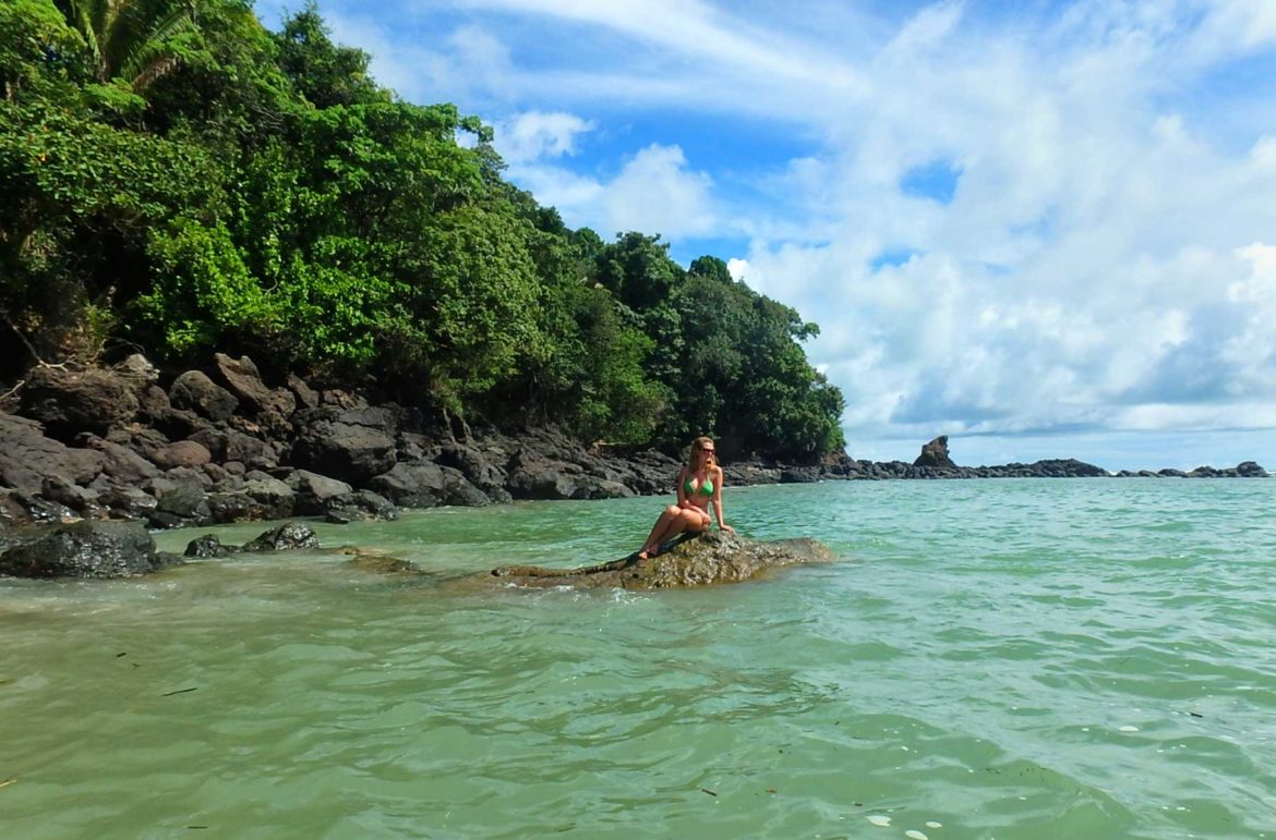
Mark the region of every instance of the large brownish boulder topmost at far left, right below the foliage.
POLYGON ((106 435, 138 413, 134 386, 106 370, 34 367, 22 389, 22 413, 45 424, 51 437, 71 441, 80 432, 106 435))

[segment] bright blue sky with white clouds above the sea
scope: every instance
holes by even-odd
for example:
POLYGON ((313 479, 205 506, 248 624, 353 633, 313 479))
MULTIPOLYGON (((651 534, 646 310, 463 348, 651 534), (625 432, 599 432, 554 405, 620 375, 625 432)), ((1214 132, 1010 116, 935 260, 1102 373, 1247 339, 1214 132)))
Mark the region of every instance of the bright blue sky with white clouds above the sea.
POLYGON ((819 322, 856 458, 1276 469, 1272 0, 320 11, 568 224, 819 322))

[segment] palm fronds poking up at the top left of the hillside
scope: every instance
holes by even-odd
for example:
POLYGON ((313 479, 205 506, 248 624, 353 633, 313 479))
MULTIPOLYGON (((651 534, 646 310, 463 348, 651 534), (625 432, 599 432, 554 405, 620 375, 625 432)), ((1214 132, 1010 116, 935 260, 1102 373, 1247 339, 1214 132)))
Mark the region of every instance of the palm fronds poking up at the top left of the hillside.
POLYGON ((199 0, 54 0, 84 37, 98 82, 134 93, 177 69, 172 38, 195 28, 199 0))

